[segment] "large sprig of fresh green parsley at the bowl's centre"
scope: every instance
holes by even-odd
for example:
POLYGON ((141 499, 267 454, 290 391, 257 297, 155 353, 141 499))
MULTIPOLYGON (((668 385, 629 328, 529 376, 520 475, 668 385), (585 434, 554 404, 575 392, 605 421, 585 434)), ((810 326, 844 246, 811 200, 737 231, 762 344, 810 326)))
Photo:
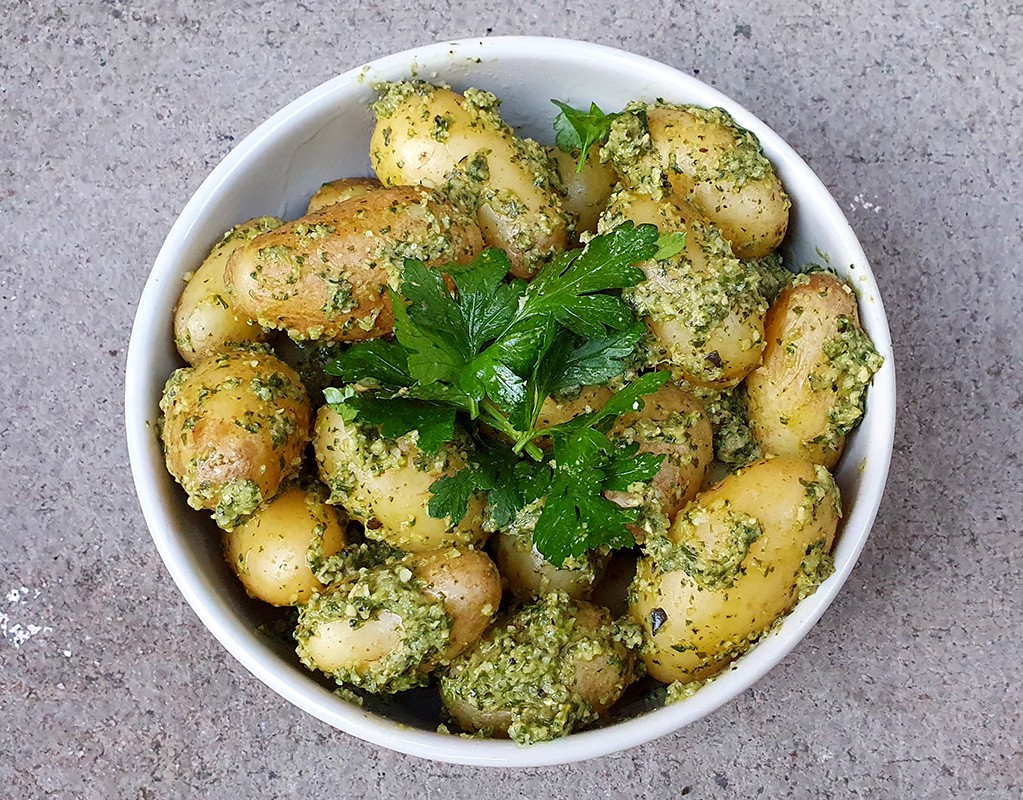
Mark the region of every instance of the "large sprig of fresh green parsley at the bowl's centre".
POLYGON ((662 457, 639 455, 607 431, 641 408, 668 374, 643 374, 604 408, 563 425, 537 424, 553 393, 624 373, 644 327, 619 293, 644 278, 637 263, 681 246, 684 237, 626 222, 553 257, 528 284, 506 280, 511 264, 499 250, 442 269, 408 259, 400 292, 391 295, 396 341, 349 347, 327 371, 364 391, 333 389, 326 400, 346 420, 379 426, 385 437, 418 432, 427 453, 454 439, 459 414, 509 440, 478 443, 469 468, 431 486, 434 518, 458 522, 473 494, 485 492, 493 522, 502 525, 546 495, 535 541, 551 563, 631 544, 627 526, 638 512, 604 493, 649 481, 662 457), (550 440, 549 455, 541 438, 550 440))

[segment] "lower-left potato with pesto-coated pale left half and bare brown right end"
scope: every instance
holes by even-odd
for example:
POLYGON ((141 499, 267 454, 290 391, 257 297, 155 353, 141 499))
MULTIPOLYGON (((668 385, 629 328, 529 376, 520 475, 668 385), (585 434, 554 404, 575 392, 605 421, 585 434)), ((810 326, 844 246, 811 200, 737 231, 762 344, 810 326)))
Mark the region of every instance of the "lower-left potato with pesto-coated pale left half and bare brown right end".
POLYGON ((481 552, 396 554, 341 576, 300 609, 299 657, 339 682, 400 692, 471 646, 500 596, 481 552))

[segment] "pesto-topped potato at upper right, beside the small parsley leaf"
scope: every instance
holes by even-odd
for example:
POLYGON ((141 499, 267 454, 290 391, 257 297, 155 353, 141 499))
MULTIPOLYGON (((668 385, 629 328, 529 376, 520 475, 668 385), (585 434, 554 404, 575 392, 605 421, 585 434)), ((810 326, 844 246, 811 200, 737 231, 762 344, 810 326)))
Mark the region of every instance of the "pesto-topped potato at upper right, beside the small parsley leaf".
POLYGON ((723 108, 630 104, 604 151, 630 187, 692 203, 739 258, 763 258, 785 238, 792 204, 782 181, 756 136, 723 108))

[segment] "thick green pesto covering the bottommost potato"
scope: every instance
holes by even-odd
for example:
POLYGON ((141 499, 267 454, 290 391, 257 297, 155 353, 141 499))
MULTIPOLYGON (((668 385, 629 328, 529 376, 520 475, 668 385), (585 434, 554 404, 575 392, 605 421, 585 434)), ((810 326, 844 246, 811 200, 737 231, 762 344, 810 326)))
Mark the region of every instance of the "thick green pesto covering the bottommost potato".
POLYGON ((641 634, 627 622, 578 626, 577 608, 564 592, 551 592, 499 619, 442 676, 445 704, 508 713, 508 737, 521 745, 595 720, 593 707, 574 688, 575 664, 610 654, 627 674, 641 634))

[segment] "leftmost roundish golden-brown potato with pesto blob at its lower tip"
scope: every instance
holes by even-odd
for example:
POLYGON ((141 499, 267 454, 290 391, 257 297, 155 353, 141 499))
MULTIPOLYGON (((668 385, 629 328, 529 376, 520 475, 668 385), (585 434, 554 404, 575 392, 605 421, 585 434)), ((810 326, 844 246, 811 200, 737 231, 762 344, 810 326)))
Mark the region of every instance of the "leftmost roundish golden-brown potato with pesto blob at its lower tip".
POLYGON ((312 410, 287 364, 237 348, 176 370, 160 401, 167 470, 231 529, 302 465, 312 410))

